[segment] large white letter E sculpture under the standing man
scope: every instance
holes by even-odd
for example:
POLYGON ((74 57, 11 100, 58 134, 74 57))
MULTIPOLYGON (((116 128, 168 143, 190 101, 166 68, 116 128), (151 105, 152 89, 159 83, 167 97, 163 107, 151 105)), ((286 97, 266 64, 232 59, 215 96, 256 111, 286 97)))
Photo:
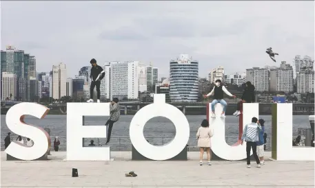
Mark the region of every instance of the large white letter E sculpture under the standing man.
POLYGON ((110 161, 110 147, 83 147, 83 138, 106 137, 106 126, 84 126, 84 116, 109 115, 110 103, 67 103, 67 161, 110 161))

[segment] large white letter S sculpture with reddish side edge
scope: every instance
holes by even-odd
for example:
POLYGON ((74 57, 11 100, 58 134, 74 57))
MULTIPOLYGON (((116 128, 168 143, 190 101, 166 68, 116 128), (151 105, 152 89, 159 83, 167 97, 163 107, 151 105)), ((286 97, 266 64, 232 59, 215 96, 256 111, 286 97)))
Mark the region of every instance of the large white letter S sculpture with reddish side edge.
POLYGON ((24 115, 43 119, 48 112, 49 108, 36 103, 23 102, 12 106, 6 114, 8 128, 15 134, 32 139, 34 145, 28 147, 18 141, 12 141, 5 152, 21 160, 35 160, 48 152, 50 148, 48 133, 43 128, 26 124, 24 121, 24 115))

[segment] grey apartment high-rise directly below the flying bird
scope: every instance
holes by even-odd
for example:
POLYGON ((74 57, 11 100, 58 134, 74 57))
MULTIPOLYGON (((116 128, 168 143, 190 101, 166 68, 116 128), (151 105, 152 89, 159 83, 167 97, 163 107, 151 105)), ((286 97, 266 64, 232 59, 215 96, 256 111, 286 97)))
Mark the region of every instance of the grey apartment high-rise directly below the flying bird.
POLYGON ((270 69, 270 91, 293 91, 293 68, 285 61, 276 69, 270 69))

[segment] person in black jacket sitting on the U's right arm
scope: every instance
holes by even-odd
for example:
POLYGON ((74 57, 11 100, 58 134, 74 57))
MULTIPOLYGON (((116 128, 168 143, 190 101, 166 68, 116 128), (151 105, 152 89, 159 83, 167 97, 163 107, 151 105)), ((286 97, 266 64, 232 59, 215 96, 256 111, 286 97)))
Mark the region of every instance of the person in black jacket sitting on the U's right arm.
POLYGON ((243 91, 243 95, 241 100, 237 103, 236 112, 233 114, 236 117, 241 115, 241 110, 243 110, 243 103, 252 103, 255 102, 255 86, 250 82, 246 82, 245 89, 243 91))

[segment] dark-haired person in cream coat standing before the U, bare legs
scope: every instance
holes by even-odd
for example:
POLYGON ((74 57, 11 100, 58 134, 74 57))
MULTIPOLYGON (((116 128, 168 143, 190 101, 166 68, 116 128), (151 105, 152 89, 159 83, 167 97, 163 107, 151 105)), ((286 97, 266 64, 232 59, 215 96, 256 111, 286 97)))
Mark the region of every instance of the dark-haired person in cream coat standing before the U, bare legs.
POLYGON ((207 165, 212 165, 210 161, 210 148, 211 148, 211 140, 213 137, 213 130, 209 128, 209 122, 207 119, 203 119, 201 123, 201 127, 198 129, 196 134, 198 139, 198 147, 200 148, 200 163, 199 165, 203 165, 203 153, 207 152, 207 165))

